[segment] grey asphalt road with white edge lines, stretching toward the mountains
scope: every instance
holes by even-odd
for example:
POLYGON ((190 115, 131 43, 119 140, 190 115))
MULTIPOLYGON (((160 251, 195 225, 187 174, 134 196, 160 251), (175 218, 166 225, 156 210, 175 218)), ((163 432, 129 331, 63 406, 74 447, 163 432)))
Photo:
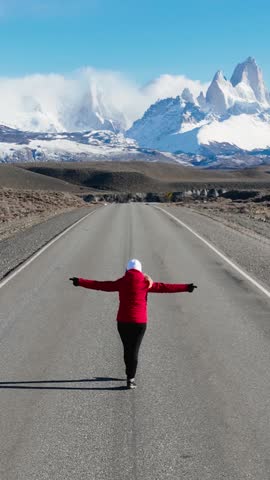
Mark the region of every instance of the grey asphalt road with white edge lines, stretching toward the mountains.
POLYGON ((269 307, 161 211, 100 209, 0 289, 1 480, 268 480, 269 307), (129 257, 199 287, 149 295, 135 391, 117 294, 68 281, 129 257))

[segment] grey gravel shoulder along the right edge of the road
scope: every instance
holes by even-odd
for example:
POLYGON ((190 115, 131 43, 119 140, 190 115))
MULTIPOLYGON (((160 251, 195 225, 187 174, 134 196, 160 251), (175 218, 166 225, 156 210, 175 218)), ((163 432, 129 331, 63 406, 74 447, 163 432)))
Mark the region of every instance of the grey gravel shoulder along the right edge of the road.
POLYGON ((175 217, 193 228, 198 234, 256 277, 260 283, 270 287, 270 241, 268 238, 237 231, 220 220, 200 215, 185 207, 164 206, 175 217))

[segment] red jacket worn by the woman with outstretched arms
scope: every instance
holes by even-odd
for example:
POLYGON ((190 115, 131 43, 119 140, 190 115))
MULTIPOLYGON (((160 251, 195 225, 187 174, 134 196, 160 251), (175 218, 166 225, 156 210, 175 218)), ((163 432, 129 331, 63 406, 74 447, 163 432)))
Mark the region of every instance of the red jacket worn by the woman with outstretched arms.
POLYGON ((98 282, 79 278, 79 286, 104 292, 119 292, 118 322, 146 323, 147 294, 187 292, 188 284, 157 283, 149 288, 144 274, 128 270, 122 278, 113 282, 98 282))

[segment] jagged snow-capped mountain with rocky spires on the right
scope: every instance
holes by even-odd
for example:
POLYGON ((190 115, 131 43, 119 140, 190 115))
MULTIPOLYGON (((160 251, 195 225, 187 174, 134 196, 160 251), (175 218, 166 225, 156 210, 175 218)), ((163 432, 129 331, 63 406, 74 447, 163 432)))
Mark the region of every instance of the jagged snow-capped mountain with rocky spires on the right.
POLYGON ((194 99, 188 89, 160 100, 126 132, 141 147, 210 155, 270 147, 270 96, 256 61, 249 57, 231 80, 218 71, 194 99))

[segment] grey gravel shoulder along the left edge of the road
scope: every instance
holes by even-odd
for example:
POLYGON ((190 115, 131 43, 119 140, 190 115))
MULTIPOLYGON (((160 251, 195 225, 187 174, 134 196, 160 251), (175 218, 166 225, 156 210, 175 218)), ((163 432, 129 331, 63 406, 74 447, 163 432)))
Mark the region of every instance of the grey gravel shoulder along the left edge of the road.
POLYGON ((0 241, 0 279, 63 230, 96 208, 98 207, 83 207, 71 212, 61 213, 23 232, 19 232, 11 238, 0 241))

